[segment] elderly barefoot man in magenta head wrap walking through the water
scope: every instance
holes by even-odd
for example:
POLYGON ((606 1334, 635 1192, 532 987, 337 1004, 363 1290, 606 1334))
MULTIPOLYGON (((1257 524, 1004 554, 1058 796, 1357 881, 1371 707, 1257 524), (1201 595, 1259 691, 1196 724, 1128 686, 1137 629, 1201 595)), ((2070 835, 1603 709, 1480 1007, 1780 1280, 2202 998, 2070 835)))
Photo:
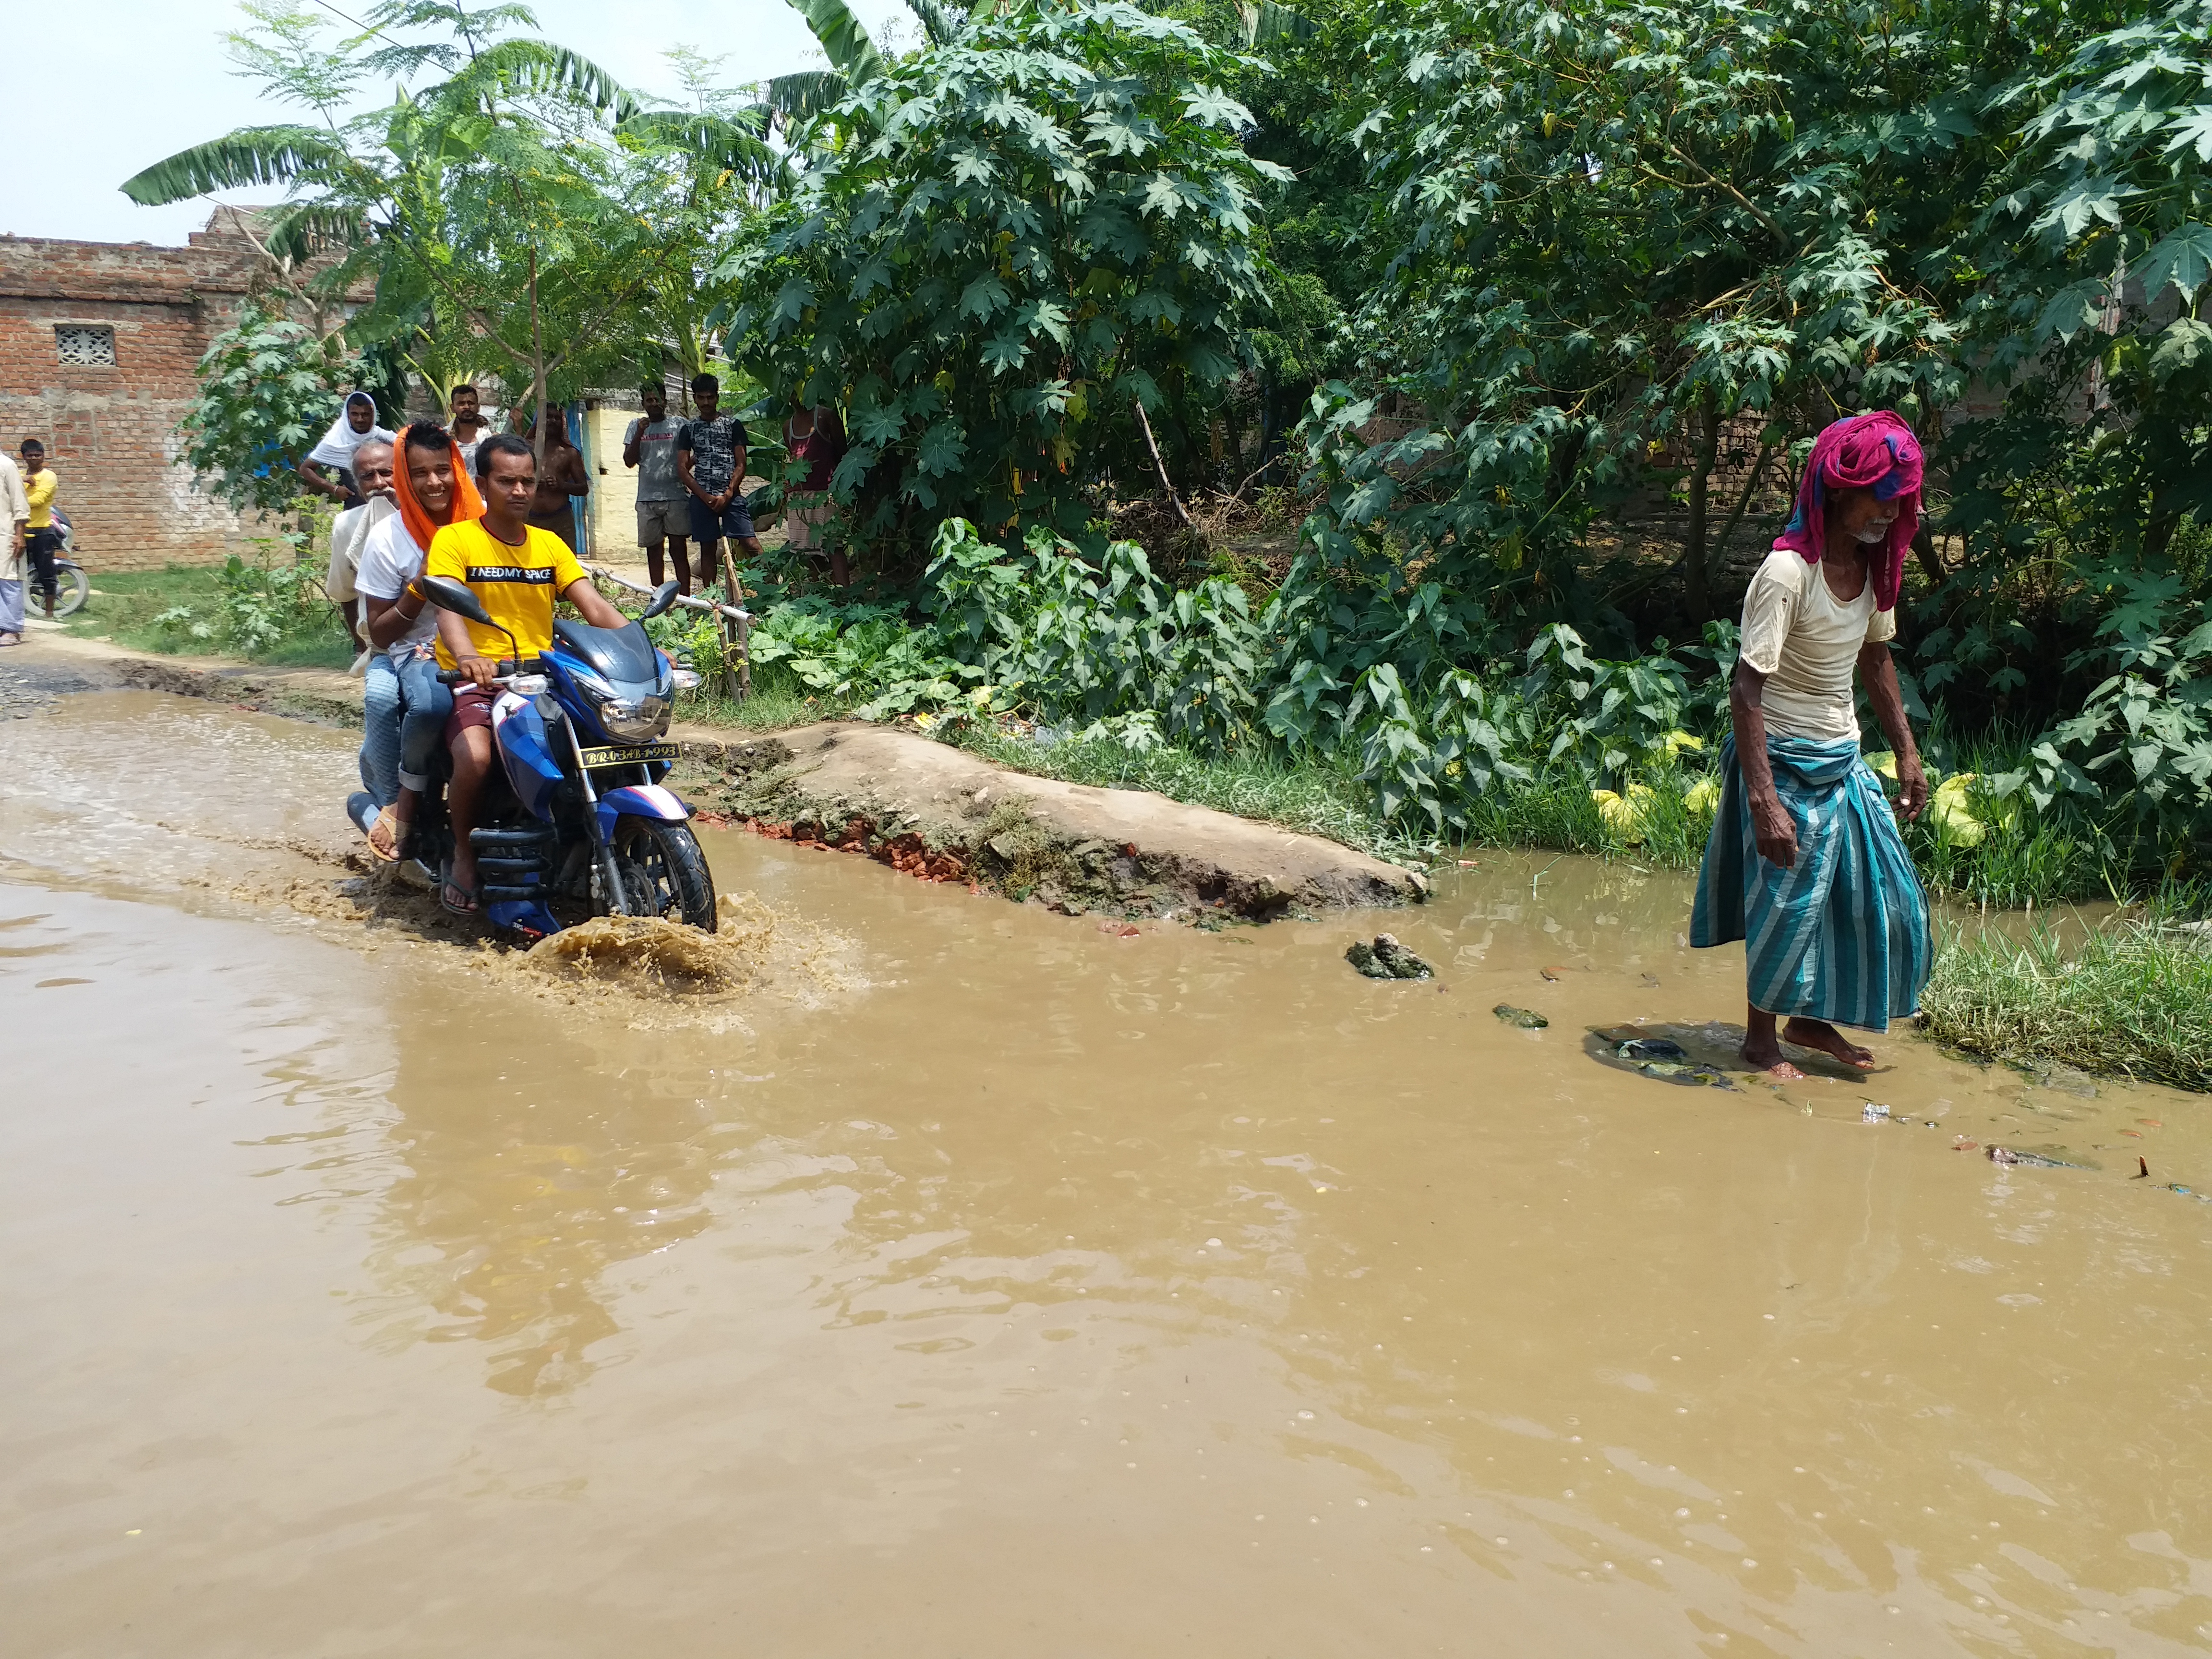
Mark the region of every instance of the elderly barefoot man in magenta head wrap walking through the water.
POLYGON ((1920 442, 1893 414, 1838 420, 1812 447, 1790 518, 1743 597, 1721 803, 1690 945, 1743 940, 1743 1060, 1803 1077, 1783 1044, 1874 1064, 1838 1024, 1889 1031, 1920 1011, 1929 907, 1882 785, 1858 752, 1854 677, 1898 757, 1918 818, 1927 774, 1889 641, 1920 522, 1920 442), (1776 1020, 1787 1018, 1776 1031, 1776 1020))

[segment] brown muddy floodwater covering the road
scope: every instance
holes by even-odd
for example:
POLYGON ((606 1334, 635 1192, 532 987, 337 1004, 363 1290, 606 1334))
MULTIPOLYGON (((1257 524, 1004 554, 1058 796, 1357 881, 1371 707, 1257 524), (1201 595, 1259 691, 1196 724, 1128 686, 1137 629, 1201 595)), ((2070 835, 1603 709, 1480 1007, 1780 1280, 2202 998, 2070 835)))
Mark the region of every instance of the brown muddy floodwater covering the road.
POLYGON ((352 768, 0 726, 7 1655, 2212 1648, 2201 1099, 1608 1068, 1741 951, 1489 854, 1119 938, 710 832, 741 991, 571 993, 361 920, 352 768))

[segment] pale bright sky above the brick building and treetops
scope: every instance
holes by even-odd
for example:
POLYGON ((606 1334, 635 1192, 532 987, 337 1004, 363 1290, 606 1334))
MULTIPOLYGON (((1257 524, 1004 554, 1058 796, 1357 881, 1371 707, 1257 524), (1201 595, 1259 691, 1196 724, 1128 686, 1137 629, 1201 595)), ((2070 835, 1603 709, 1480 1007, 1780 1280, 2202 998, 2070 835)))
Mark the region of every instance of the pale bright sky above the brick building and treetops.
MULTIPOLYGON (((77 0, 80 4, 84 0, 77 0)), ((361 18, 369 0, 330 0, 361 18)), ((911 42, 900 0, 847 0, 869 31, 911 42)), ((230 0, 95 0, 97 27, 49 9, 46 40, 62 58, 20 62, 0 97, 0 232, 73 241, 179 246, 208 221, 212 204, 139 208, 117 186, 139 168, 234 126, 301 119, 268 104, 232 73, 223 35, 243 27, 230 0), (66 46, 64 46, 66 40, 66 46)), ((319 9, 316 0, 299 0, 319 9)), ((672 97, 677 80, 661 53, 690 46, 723 58, 730 84, 818 69, 814 35, 785 0, 533 0, 540 33, 593 58, 633 91, 672 97)), ((345 29, 332 18, 332 29, 345 29)), ((367 102, 385 102, 389 88, 367 102)), ((274 201, 281 190, 226 201, 274 201)))

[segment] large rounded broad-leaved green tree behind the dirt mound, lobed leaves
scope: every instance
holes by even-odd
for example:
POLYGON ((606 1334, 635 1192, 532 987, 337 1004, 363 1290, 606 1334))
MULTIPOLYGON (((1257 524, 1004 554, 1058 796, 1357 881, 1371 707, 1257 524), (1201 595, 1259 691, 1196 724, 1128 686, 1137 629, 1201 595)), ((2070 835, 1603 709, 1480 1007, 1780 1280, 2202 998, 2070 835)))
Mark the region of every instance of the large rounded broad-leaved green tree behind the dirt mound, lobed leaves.
POLYGON ((1022 0, 872 75, 723 265, 779 400, 843 403, 863 535, 1075 531, 1141 405, 1237 369, 1259 192, 1241 60, 1119 0, 1022 0), (1110 434, 1110 438, 1108 438, 1110 434))

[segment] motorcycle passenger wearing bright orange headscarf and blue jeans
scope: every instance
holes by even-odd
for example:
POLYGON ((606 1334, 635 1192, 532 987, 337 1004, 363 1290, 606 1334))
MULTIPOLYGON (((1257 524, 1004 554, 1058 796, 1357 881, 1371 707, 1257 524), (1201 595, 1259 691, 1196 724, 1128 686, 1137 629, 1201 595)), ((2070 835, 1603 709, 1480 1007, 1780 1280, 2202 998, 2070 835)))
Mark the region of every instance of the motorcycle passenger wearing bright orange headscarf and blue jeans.
MULTIPOLYGON (((429 757, 445 732, 447 714, 453 712, 453 692, 438 684, 438 664, 431 655, 438 619, 425 608, 414 580, 422 575, 422 560, 440 529, 484 513, 484 500, 460 465, 460 445, 445 427, 416 420, 400 436, 400 451, 405 465, 394 469, 400 511, 369 531, 354 577, 369 646, 383 653, 383 672, 394 681, 392 697, 365 699, 372 714, 389 708, 387 719, 398 723, 396 737, 383 750, 398 757, 396 776, 389 779, 394 787, 376 796, 383 812, 369 830, 369 852, 385 863, 407 852, 416 805, 429 787, 429 757)), ((372 688, 376 684, 372 664, 372 688)), ((369 750, 374 743, 363 748, 369 750)), ((376 790, 378 785, 372 785, 372 792, 376 790)))

